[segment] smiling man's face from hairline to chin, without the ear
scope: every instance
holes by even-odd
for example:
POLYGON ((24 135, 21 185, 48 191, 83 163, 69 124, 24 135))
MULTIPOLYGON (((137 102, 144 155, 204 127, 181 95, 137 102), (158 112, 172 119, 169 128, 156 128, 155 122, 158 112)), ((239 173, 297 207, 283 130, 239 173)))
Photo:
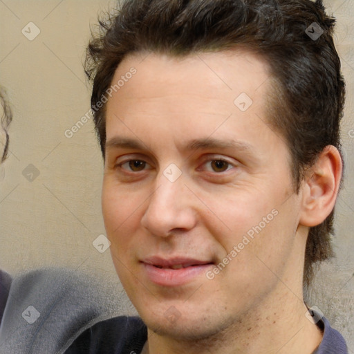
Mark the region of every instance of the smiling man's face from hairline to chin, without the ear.
POLYGON ((106 232, 147 326, 205 337, 301 283, 290 156, 265 118, 263 60, 142 58, 120 64, 113 84, 137 72, 106 106, 106 232))

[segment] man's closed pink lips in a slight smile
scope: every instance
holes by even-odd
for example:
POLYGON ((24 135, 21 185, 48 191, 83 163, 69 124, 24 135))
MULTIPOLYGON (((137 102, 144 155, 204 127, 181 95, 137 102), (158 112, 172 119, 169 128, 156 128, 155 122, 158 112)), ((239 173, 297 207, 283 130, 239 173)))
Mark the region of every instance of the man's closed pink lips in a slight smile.
POLYGON ((182 286, 193 281, 196 277, 207 272, 208 268, 214 266, 212 261, 186 257, 173 257, 164 259, 162 257, 149 257, 141 261, 147 278, 158 286, 182 286), (171 267, 172 265, 183 265, 180 269, 158 268, 171 267))

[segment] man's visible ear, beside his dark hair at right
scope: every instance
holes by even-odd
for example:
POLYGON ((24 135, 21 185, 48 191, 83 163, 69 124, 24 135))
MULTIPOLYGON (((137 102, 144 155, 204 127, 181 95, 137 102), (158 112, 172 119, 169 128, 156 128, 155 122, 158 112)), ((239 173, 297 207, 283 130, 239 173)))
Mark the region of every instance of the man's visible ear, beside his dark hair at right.
POLYGON ((342 158, 337 148, 328 145, 306 171, 301 187, 301 225, 317 226, 332 212, 341 178, 342 158))

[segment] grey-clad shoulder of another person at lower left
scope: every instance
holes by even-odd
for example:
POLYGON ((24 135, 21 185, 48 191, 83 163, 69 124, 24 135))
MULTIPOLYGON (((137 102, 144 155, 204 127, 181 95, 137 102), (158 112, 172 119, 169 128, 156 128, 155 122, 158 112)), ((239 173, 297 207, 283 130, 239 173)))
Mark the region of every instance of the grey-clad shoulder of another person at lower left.
POLYGON ((1 353, 60 353, 80 328, 113 317, 110 296, 87 274, 42 268, 13 277, 0 326, 1 353))

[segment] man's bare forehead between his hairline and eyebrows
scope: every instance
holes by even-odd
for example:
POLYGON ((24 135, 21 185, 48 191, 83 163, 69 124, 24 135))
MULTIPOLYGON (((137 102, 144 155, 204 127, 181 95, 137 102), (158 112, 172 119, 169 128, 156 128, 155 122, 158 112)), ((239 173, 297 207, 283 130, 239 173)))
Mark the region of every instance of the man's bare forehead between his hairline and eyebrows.
POLYGON ((246 139, 262 149, 274 138, 264 133, 268 72, 262 58, 245 50, 130 55, 111 82, 106 140, 138 137, 149 146, 161 146, 162 140, 167 146, 173 139, 180 147, 212 134, 219 140, 246 139))

